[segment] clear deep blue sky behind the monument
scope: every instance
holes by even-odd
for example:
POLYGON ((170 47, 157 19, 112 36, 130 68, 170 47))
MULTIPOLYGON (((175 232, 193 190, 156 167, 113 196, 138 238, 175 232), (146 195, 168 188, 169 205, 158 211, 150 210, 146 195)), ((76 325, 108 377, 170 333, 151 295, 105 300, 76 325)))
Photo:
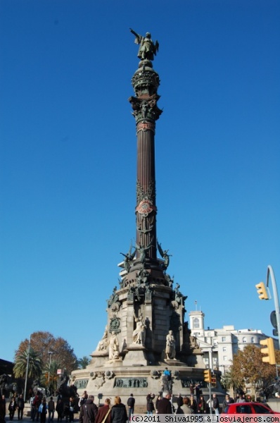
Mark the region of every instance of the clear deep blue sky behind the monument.
POLYGON ((129 32, 160 42, 158 240, 187 314, 272 335, 280 280, 278 0, 1 0, 0 357, 34 331, 90 354, 135 240, 129 32))

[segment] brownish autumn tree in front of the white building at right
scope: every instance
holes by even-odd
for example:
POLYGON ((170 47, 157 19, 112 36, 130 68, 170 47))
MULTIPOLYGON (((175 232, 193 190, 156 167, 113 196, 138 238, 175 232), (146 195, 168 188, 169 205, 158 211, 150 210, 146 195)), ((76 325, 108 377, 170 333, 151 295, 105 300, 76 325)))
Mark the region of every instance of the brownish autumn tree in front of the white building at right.
MULTIPOLYGON (((275 366, 262 362, 262 357, 260 348, 255 345, 247 345, 243 351, 238 350, 230 370, 234 386, 244 389, 246 384, 250 384, 266 388, 272 384, 276 376, 275 366)), ((276 351, 276 362, 280 362, 279 359, 280 352, 276 351)))

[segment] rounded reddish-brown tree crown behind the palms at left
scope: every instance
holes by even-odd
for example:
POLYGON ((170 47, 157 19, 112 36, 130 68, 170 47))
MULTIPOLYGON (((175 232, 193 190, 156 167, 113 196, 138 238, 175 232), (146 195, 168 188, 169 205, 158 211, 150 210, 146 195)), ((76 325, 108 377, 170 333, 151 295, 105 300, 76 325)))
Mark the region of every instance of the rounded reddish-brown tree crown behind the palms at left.
MULTIPOLYGON (((18 355, 23 354, 28 348, 28 340, 22 341, 15 351, 15 360, 18 355)), ((77 368, 77 357, 74 354, 74 350, 70 347, 65 339, 54 336, 49 332, 38 331, 31 335, 31 348, 39 354, 42 360, 42 370, 46 371, 49 368, 50 355, 51 361, 55 361, 59 369, 65 370, 67 374, 70 374, 72 370, 77 368)))

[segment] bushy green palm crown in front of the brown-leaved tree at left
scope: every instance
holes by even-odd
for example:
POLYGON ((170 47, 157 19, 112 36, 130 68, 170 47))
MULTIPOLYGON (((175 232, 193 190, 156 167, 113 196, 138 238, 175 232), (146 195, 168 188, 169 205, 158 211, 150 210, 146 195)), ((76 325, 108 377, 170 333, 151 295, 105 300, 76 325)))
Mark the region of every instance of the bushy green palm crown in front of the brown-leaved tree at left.
MULTIPOLYGON (((27 360, 28 360, 28 349, 16 355, 15 365, 13 366, 13 374, 15 377, 24 377, 27 370, 27 360)), ((42 373, 42 360, 39 356, 39 353, 30 348, 29 352, 29 362, 28 362, 28 374, 30 378, 39 377, 42 373)))

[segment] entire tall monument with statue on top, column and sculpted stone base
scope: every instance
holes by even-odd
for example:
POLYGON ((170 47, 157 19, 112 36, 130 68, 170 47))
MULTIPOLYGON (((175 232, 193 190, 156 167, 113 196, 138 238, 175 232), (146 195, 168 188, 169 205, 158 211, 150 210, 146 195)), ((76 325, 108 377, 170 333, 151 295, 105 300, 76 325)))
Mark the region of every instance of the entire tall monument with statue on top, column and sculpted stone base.
POLYGON ((121 253, 119 286, 107 300, 103 337, 90 364, 72 372, 70 383, 78 393, 120 395, 124 403, 133 392, 136 405, 144 405, 148 393, 163 389, 189 395, 191 384, 203 385, 205 364, 185 321, 187 297, 168 274, 171 255, 157 237, 155 122, 162 110, 160 78, 152 62, 159 44, 148 32, 131 32, 140 59, 132 76, 134 97, 129 98, 136 122, 136 241, 121 253), (171 379, 163 374, 166 367, 171 379))

